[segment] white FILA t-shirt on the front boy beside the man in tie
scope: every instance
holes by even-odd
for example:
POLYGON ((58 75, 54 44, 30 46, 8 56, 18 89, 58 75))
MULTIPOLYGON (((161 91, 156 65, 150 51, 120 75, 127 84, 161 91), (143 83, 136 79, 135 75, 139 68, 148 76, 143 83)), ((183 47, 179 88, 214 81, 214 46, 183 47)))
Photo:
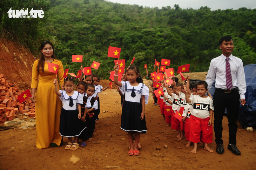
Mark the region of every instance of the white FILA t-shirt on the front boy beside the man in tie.
POLYGON ((193 116, 198 118, 207 118, 210 116, 210 109, 214 110, 213 107, 213 99, 211 97, 203 98, 199 95, 195 95, 189 98, 191 102, 189 104, 193 104, 193 116))

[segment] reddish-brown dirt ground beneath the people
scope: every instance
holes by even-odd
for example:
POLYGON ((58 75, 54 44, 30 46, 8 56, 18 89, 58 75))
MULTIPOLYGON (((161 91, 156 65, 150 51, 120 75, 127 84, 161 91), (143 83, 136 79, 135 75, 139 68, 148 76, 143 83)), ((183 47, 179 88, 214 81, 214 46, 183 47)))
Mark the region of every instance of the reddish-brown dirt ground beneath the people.
MULTIPOLYGON (((256 136, 255 132, 247 132, 238 122, 237 147, 241 155, 237 156, 227 149, 228 121, 223 118, 224 154, 216 153, 215 142, 209 144, 214 150, 210 153, 198 144, 197 154, 192 154, 192 147, 187 148, 186 139, 178 142, 176 132, 166 127, 162 120, 160 108, 154 106, 150 95, 146 105, 145 116, 148 132, 141 135, 140 156, 128 156, 128 138, 120 129, 121 97, 116 89, 100 93, 100 123, 96 124, 96 134, 92 142, 85 148, 71 151, 65 150, 67 138, 61 147, 37 149, 35 146, 36 128, 27 130, 9 129, 0 131, 0 169, 1 170, 59 170, 59 169, 255 169, 256 136), (102 113, 103 110, 108 112, 102 113), (124 141, 121 139, 124 138, 124 141), (164 144, 168 148, 163 148, 164 144), (161 150, 156 150, 161 147, 161 150), (71 157, 80 160, 70 161, 71 157)), ((214 135, 213 135, 214 136, 214 135)), ((215 137, 214 139, 215 140, 215 137)))

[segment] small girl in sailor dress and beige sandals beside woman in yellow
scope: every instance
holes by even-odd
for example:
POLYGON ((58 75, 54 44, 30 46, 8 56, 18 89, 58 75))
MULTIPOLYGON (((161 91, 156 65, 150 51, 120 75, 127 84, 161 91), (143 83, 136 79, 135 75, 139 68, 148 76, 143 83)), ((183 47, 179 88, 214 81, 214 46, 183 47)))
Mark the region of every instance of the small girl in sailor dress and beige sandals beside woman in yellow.
POLYGON ((83 130, 85 130, 85 124, 81 123, 81 105, 83 103, 83 97, 78 91, 74 90, 74 79, 72 77, 66 77, 64 79, 65 90, 59 90, 57 88, 57 80, 53 81, 55 85, 55 94, 60 97, 63 103, 60 114, 60 135, 68 138, 68 145, 65 147, 67 150, 76 150, 79 148, 78 136, 83 130), (76 109, 76 106, 78 109, 76 109), (72 137, 75 137, 72 144, 72 137))

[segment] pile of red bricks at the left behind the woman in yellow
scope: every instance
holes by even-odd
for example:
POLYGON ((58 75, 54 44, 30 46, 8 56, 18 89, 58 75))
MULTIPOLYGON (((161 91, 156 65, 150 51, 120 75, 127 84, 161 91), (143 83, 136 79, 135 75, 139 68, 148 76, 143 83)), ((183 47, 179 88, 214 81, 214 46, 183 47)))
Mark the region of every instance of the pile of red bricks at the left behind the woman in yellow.
POLYGON ((14 115, 27 113, 28 116, 35 116, 35 104, 27 98, 19 103, 18 96, 23 93, 16 84, 10 83, 4 74, 0 74, 0 123, 14 119, 14 115))

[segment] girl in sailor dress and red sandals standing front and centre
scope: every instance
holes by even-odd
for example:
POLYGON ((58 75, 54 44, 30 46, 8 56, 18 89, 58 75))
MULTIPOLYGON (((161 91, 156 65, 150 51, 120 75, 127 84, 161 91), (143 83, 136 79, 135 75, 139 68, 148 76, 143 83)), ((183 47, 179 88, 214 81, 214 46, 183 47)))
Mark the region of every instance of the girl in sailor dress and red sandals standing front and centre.
POLYGON ((147 125, 144 117, 145 104, 148 104, 149 89, 143 84, 140 69, 131 66, 127 69, 126 80, 119 82, 117 79, 119 65, 116 64, 114 83, 124 91, 124 102, 121 118, 121 129, 128 132, 130 143, 129 155, 140 155, 138 144, 140 133, 147 133, 147 125), (133 132, 135 133, 135 144, 133 145, 133 132))

